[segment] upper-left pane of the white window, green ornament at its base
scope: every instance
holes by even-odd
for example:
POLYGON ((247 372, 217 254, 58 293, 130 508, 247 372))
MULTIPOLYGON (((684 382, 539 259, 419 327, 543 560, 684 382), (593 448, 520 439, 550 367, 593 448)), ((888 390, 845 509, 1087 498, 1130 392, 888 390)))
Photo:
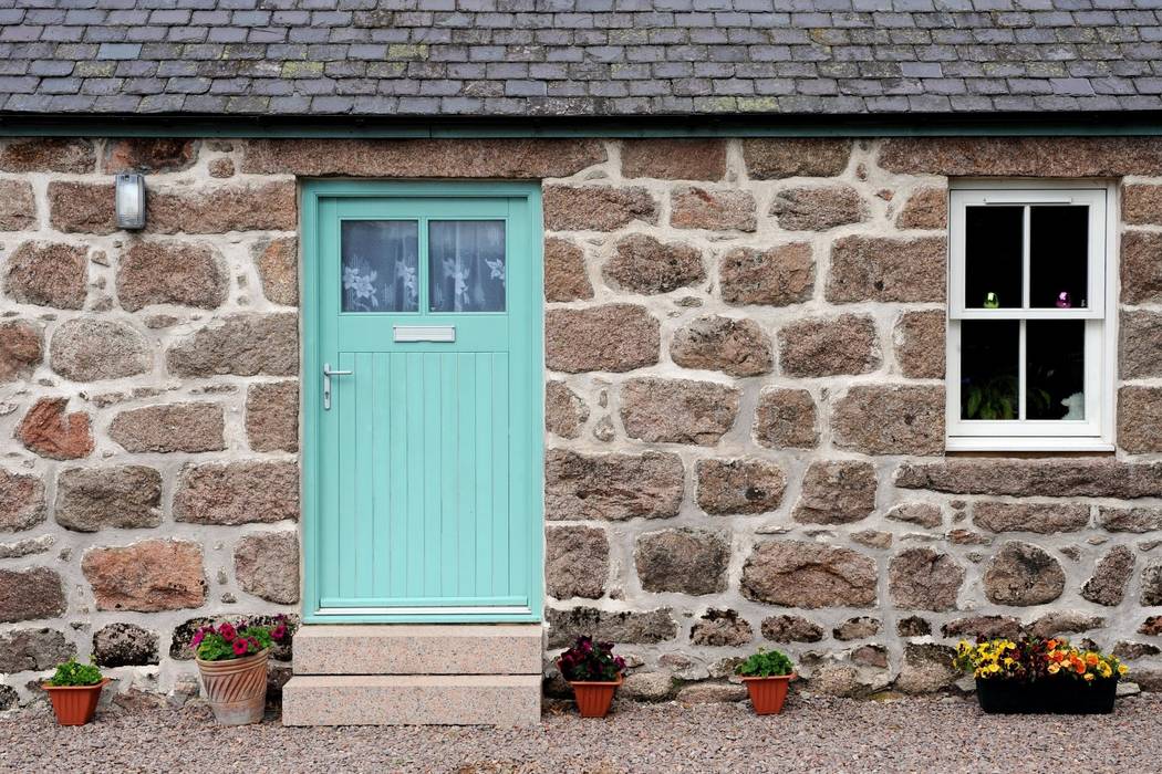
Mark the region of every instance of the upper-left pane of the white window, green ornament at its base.
POLYGON ((964 306, 1020 308, 1023 207, 969 207, 964 212, 964 306))

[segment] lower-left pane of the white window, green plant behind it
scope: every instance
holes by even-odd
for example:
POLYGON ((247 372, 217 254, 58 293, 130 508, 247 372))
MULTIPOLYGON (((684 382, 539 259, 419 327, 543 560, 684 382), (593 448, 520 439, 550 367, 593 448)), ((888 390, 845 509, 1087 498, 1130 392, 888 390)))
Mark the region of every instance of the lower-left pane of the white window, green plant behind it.
POLYGON ((960 418, 1017 419, 1020 320, 960 326, 960 418))

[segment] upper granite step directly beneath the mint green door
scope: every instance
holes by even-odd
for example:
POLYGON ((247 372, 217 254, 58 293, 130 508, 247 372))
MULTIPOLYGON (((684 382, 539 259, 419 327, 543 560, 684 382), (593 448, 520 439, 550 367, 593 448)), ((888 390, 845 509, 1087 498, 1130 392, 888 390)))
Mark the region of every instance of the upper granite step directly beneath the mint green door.
POLYGON ((539 623, 308 624, 294 636, 295 674, 536 674, 539 623))

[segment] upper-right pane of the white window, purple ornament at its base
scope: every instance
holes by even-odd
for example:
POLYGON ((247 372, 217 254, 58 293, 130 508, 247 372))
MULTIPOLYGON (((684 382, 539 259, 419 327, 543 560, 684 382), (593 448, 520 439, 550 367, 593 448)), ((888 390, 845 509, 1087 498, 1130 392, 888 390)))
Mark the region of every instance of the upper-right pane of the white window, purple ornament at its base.
POLYGON ((1030 306, 1088 305, 1089 208, 1032 208, 1028 258, 1030 306))

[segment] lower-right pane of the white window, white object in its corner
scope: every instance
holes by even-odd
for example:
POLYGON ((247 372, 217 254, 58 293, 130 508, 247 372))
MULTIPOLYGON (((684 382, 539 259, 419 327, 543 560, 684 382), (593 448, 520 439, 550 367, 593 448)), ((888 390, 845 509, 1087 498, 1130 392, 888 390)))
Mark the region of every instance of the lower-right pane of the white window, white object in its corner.
POLYGON ((1085 320, 1030 320, 1025 417, 1085 419, 1085 320))

